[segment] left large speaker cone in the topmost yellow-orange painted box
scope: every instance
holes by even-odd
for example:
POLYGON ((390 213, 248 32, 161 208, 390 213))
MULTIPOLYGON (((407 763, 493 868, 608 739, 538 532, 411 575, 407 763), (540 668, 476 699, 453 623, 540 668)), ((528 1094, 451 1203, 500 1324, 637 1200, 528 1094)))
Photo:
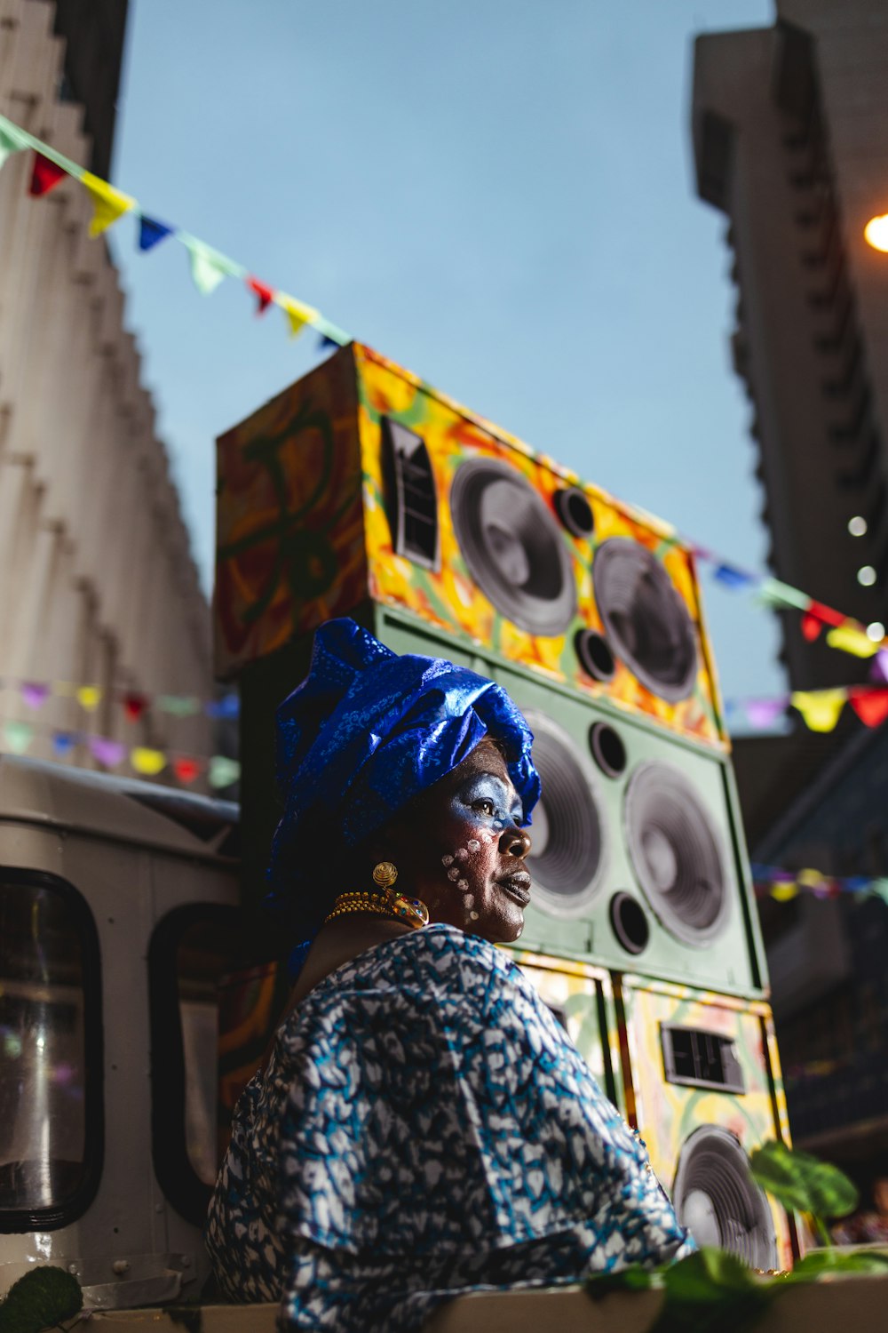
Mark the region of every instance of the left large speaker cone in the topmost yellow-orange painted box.
POLYGON ((498 459, 473 459, 450 488, 469 573, 498 612, 530 635, 563 635, 576 612, 560 529, 530 481, 498 459))

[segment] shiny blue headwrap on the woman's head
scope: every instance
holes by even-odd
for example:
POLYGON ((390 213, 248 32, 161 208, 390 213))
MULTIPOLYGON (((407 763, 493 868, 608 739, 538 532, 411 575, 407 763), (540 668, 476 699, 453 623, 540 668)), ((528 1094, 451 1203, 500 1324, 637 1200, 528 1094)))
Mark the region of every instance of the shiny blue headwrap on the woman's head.
MULTIPOLYGON (((317 929, 318 844, 357 846, 490 734, 506 750, 523 821, 539 798, 533 734, 506 690, 441 657, 398 657, 353 620, 314 636, 309 674, 277 710, 284 817, 266 902, 317 929)), ((333 893, 341 886, 330 885, 333 893)))

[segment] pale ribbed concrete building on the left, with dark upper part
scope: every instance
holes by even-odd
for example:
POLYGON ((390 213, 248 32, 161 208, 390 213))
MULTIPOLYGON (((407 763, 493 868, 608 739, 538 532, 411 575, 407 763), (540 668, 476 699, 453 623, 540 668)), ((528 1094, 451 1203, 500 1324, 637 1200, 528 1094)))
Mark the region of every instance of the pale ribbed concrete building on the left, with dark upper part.
MULTIPOLYGON (((125 0, 0 0, 0 111, 101 175, 125 15, 125 0)), ((209 754, 205 716, 130 721, 120 704, 209 696, 209 611, 91 201, 73 180, 31 199, 31 169, 23 152, 0 172, 0 736, 31 722, 39 757, 53 728, 209 754), (23 680, 96 684, 101 702, 56 689, 33 712, 23 680)), ((85 745, 73 757, 96 764, 85 745)))

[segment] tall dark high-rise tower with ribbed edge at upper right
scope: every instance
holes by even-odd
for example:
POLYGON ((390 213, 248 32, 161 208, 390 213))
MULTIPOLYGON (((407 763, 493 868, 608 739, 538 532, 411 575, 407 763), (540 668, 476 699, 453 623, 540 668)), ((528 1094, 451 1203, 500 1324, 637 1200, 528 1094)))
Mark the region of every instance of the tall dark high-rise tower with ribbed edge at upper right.
MULTIPOLYGON (((706 33, 694 61, 700 196, 730 219, 735 367, 754 405, 779 579, 888 621, 888 5, 779 0, 774 28, 706 33), (867 532, 848 523, 863 517, 867 532), (864 587, 857 572, 875 571, 864 587)), ((793 688, 864 668, 785 624, 793 688)))

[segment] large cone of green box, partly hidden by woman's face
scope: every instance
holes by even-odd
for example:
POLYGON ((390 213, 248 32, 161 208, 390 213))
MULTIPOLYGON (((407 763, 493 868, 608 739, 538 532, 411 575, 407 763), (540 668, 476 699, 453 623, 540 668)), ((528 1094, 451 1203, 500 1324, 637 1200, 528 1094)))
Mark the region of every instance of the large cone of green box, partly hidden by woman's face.
POLYGON ((578 916, 604 869, 606 830, 591 765, 543 713, 526 713, 542 796, 534 810, 529 869, 534 897, 554 916, 578 916))

